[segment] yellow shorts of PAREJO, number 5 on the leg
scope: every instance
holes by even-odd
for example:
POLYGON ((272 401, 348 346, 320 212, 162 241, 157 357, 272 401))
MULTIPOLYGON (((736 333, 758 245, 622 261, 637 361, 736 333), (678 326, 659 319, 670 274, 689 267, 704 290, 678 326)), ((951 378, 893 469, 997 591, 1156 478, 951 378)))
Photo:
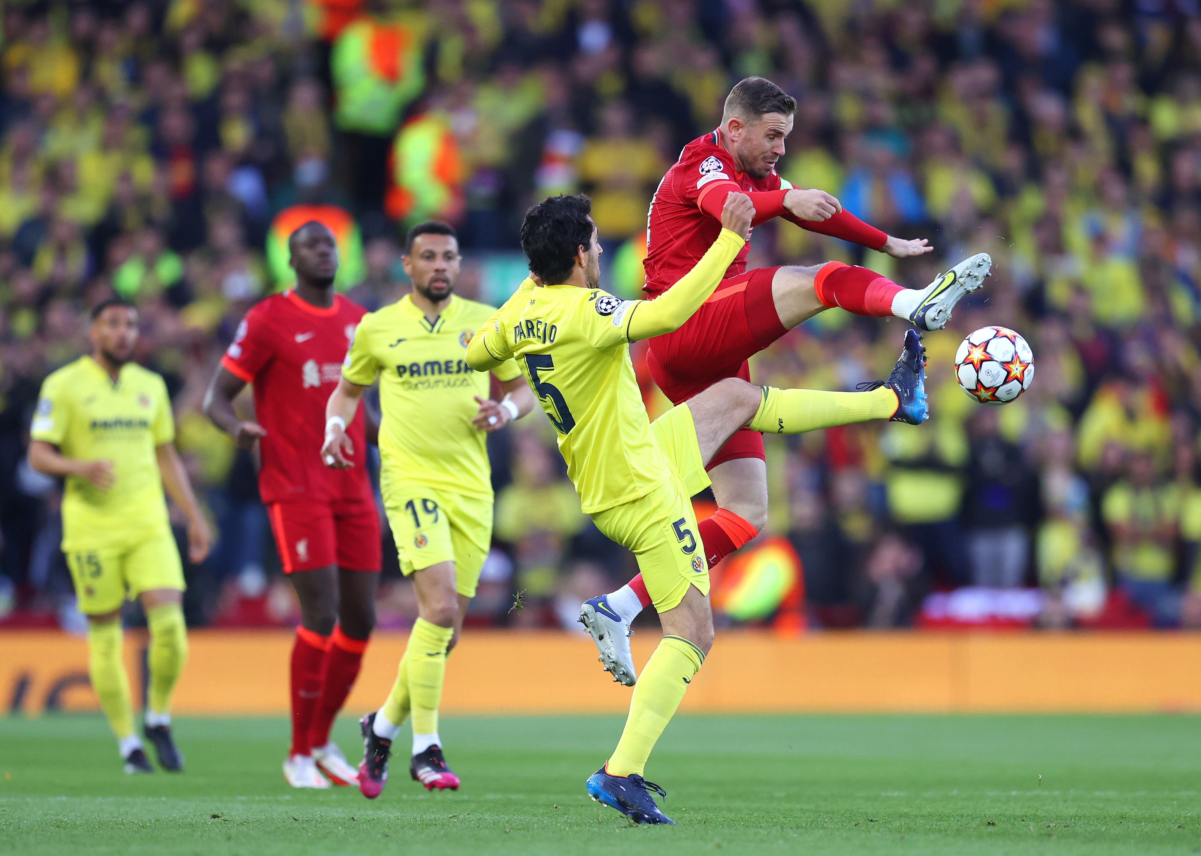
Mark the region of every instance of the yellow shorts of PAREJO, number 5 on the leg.
POLYGON ((655 608, 680 605, 689 585, 709 594, 709 567, 692 497, 709 487, 692 411, 680 404, 651 423, 673 477, 651 493, 592 515, 597 528, 637 558, 655 608))

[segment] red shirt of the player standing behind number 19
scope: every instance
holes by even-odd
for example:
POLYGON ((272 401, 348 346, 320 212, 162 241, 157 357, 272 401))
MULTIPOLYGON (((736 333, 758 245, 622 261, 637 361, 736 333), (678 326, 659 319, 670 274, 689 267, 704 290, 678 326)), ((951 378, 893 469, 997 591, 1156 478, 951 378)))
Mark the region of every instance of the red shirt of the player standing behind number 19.
POLYGON ((304 497, 331 501, 371 495, 364 462, 363 408, 347 426, 354 466, 333 470, 321 460, 325 402, 342 376, 342 359, 366 311, 341 295, 321 309, 287 291, 257 303, 221 358, 231 374, 255 387, 259 440, 258 492, 264 503, 304 497))

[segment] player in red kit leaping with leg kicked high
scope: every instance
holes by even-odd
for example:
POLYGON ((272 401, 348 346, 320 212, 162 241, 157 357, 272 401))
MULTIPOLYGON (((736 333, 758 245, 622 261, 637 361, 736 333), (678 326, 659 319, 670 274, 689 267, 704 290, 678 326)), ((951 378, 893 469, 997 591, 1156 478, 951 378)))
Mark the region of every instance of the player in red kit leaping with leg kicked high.
MULTIPOLYGON (((849 240, 896 258, 933 248, 925 239, 885 234, 842 209, 830 194, 793 188, 776 174, 784 138, 793 130, 796 100, 771 81, 748 77, 725 99, 722 124, 694 139, 668 170, 647 219, 646 292, 662 295, 700 260, 721 232, 730 191, 754 203, 752 226, 779 216, 811 232, 849 240)), ((749 242, 725 278, 677 331, 650 340, 651 376, 673 404, 681 404, 724 378, 751 379, 747 359, 820 311, 841 307, 856 315, 906 319, 924 331, 942 329, 951 309, 988 275, 992 260, 980 252, 939 274, 926 289, 906 289, 874 271, 842 262, 814 267, 746 269, 749 242)), ((753 539, 767 522, 767 470, 763 434, 742 428, 709 465, 718 510, 699 524, 709 565, 753 539)), ((629 656, 629 622, 650 596, 641 575, 584 604, 580 622, 614 678, 637 680, 629 656)))

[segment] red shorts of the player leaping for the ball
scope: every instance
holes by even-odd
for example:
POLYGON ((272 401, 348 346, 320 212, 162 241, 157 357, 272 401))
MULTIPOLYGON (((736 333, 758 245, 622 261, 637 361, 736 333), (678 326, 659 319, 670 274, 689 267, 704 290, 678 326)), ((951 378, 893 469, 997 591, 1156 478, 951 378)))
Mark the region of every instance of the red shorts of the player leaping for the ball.
MULTIPOLYGON (((788 332, 771 297, 778 269, 755 268, 723 279, 680 329, 651 339, 646 363, 673 404, 725 378, 751 380, 747 359, 788 332)), ((749 428, 734 432, 706 469, 736 458, 763 460, 763 434, 749 428)))

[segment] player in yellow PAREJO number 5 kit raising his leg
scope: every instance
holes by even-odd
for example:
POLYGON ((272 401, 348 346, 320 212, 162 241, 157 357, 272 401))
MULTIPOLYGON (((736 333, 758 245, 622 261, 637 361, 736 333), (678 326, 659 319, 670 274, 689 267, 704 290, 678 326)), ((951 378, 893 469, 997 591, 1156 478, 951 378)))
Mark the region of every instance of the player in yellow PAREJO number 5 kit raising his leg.
POLYGON ((621 741, 587 790, 638 822, 670 824, 651 796, 663 789, 643 769, 713 642, 709 570, 689 499, 709 486, 705 463, 743 426, 796 434, 873 418, 925 421, 925 351, 907 331, 892 374, 867 392, 777 390, 727 378, 651 424, 629 343, 679 328, 713 293, 746 242, 754 207, 745 194, 729 194, 717 240, 655 301, 600 291, 590 213, 585 196, 548 198, 526 213, 521 249, 531 279, 476 333, 467 362, 485 371, 516 358, 558 432, 584 511, 638 558, 664 636, 634 689, 621 741))

